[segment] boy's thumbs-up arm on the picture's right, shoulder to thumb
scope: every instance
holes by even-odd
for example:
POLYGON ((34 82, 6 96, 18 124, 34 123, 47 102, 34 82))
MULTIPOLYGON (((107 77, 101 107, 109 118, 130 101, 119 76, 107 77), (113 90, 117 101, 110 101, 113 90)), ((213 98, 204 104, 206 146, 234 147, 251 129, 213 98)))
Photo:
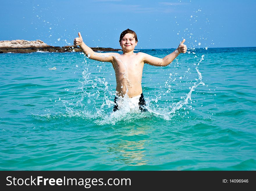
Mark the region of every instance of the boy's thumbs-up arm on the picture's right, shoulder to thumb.
POLYGON ((164 58, 157 58, 149 54, 144 55, 144 63, 153 65, 153 66, 167 66, 169 65, 180 53, 186 53, 187 46, 183 44, 185 39, 179 44, 179 47, 173 51, 173 53, 168 54, 164 58))

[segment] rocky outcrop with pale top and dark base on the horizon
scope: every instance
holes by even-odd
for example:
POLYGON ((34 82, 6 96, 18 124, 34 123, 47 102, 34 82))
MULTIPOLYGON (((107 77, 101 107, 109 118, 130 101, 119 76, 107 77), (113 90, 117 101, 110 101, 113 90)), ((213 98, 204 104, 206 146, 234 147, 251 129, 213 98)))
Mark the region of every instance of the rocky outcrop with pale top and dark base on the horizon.
MULTIPOLYGON (((122 49, 102 48, 102 47, 91 47, 93 51, 104 51, 112 52, 119 51, 122 49)), ((82 52, 79 47, 75 46, 64 46, 54 47, 45 44, 41 40, 28 41, 28 40, 4 40, 0 41, 0 53, 31 53, 31 52, 82 52)))

